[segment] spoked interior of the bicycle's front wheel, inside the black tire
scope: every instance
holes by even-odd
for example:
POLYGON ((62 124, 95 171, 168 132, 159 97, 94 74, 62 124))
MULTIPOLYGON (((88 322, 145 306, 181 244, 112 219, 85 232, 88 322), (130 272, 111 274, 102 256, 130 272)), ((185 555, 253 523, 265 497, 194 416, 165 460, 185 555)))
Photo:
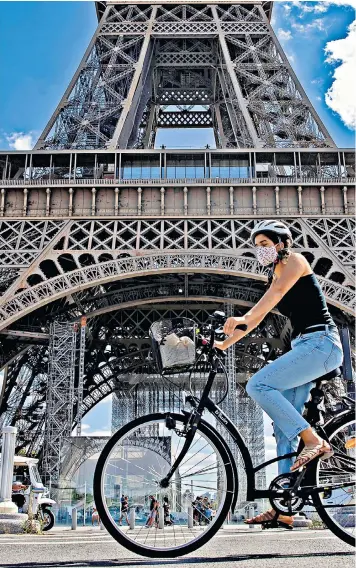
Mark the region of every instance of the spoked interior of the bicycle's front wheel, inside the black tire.
POLYGON ((162 419, 159 426, 141 426, 128 432, 110 450, 102 474, 105 510, 111 526, 126 542, 150 550, 188 545, 214 527, 225 499, 232 498, 232 485, 231 489, 226 485, 227 456, 219 457, 207 434, 199 429, 169 486, 160 486, 180 455, 185 440, 179 432, 183 430, 181 423, 177 430, 169 429, 162 419), (131 528, 125 523, 118 525, 118 497, 122 494, 130 496, 131 528), (156 501, 149 499, 150 495, 156 501), (165 497, 173 522, 163 508, 165 497))

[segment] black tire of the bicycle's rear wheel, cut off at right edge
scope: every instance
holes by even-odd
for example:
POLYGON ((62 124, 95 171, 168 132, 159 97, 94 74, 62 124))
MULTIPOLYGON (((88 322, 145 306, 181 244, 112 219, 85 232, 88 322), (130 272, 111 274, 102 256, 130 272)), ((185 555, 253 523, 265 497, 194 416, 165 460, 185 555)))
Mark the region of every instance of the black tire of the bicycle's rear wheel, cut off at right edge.
MULTIPOLYGON (((355 423, 355 414, 354 412, 350 411, 350 412, 344 412, 343 414, 336 416, 335 418, 333 418, 333 420, 327 423, 324 426, 324 429, 331 443, 332 443, 333 434, 343 426, 347 426, 352 422, 355 423)), ((314 460, 314 462, 312 462, 311 465, 313 469, 311 470, 310 473, 315 479, 315 484, 317 484, 318 468, 320 467, 320 460, 314 460)), ((328 515, 328 513, 326 512, 326 509, 324 508, 322 503, 322 498, 320 493, 314 494, 313 502, 321 520, 331 530, 331 532, 333 532, 335 536, 337 536, 347 544, 355 546, 356 544, 355 537, 342 530, 340 525, 338 525, 335 521, 333 521, 330 515, 328 515)))

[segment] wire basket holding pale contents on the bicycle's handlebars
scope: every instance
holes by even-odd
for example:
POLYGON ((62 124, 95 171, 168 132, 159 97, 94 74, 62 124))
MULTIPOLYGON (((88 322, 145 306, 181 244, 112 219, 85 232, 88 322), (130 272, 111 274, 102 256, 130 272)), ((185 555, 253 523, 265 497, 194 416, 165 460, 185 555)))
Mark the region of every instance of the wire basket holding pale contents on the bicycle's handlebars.
POLYGON ((150 327, 152 354, 162 375, 190 371, 196 361, 196 323, 189 318, 163 319, 150 327))

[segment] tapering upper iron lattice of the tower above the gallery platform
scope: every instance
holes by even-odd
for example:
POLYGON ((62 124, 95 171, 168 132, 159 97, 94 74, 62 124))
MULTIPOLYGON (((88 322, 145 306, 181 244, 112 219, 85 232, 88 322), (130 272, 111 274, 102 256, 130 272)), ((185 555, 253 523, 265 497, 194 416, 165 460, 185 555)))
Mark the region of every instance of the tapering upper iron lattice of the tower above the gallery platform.
POLYGON ((218 148, 334 146, 270 4, 107 2, 36 148, 153 148, 169 127, 212 127, 218 148))

